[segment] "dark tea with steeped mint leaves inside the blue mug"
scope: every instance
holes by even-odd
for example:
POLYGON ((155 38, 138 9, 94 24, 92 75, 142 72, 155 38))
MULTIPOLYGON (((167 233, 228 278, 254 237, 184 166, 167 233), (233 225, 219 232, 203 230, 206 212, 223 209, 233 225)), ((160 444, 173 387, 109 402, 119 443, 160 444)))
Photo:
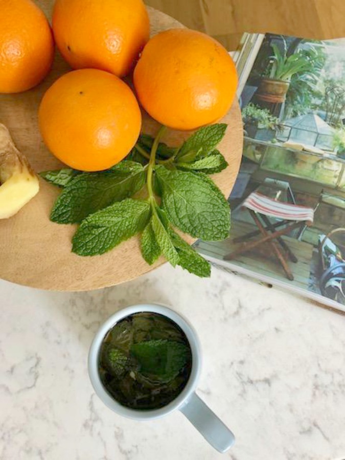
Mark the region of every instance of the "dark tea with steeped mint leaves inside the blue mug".
POLYGON ((135 313, 106 335, 99 373, 107 392, 132 409, 157 409, 188 382, 192 353, 185 333, 169 318, 135 313))

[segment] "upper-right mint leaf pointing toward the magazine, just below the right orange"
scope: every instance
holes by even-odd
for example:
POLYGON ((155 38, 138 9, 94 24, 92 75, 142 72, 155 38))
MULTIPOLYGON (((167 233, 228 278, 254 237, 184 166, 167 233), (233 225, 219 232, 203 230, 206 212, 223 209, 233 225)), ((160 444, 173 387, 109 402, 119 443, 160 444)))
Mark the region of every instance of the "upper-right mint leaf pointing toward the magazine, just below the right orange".
POLYGON ((217 123, 198 129, 182 145, 176 158, 184 163, 193 162, 212 152, 223 139, 227 125, 217 123))

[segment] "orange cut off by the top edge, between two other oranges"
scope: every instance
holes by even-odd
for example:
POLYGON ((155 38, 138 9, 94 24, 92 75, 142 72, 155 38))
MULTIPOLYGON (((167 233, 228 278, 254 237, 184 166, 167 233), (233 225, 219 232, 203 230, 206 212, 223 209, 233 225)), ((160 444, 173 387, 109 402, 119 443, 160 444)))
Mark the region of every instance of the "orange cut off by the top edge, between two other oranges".
POLYGON ((149 39, 142 0, 57 0, 56 44, 73 68, 99 68, 127 75, 149 39))

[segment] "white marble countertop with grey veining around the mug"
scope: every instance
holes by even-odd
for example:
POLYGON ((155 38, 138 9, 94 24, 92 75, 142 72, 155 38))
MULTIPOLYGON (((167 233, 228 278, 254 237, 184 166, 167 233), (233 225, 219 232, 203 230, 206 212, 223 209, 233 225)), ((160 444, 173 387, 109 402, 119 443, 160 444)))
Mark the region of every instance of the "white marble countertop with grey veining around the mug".
POLYGON ((345 458, 345 316, 213 269, 165 265, 85 293, 0 282, 1 460, 335 460, 345 458), (101 321, 156 301, 198 331, 198 393, 235 432, 214 451, 179 412, 152 422, 112 413, 88 380, 101 321))

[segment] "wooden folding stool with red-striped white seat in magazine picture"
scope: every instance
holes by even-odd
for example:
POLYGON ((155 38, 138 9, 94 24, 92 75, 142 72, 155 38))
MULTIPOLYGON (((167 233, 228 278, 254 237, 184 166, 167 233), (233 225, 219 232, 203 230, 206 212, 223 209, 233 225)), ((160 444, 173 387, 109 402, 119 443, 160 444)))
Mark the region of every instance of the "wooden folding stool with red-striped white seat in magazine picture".
POLYGON ((314 210, 298 204, 277 201, 258 192, 251 193, 243 202, 242 207, 247 208, 258 230, 235 238, 235 243, 244 242, 238 249, 224 257, 224 260, 236 259, 237 256, 267 243, 277 257, 289 280, 293 280, 293 274, 288 266, 288 259, 297 262, 296 256, 281 238, 294 228, 310 226, 314 219, 314 210), (279 219, 271 223, 269 217, 279 219), (260 239, 246 241, 261 235, 260 239))

